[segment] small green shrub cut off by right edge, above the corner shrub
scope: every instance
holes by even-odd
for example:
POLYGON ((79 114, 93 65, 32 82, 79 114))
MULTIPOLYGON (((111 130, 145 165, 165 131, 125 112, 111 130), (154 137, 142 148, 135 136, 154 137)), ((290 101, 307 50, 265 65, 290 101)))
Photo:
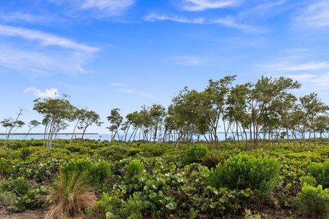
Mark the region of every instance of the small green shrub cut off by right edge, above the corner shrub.
POLYGON ((317 180, 319 185, 329 188, 329 162, 310 164, 308 172, 317 180))

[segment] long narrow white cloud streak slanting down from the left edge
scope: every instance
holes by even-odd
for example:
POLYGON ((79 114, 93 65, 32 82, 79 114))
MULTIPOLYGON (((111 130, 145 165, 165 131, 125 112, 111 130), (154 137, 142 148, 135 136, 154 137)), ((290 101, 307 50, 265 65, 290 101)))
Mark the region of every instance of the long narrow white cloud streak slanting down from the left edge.
POLYGON ((15 36, 20 38, 25 38, 27 40, 37 40, 41 43, 42 46, 65 47, 68 49, 80 50, 87 53, 93 53, 99 50, 96 47, 88 47, 84 44, 77 43, 68 38, 63 38, 60 36, 56 36, 54 34, 47 34, 43 31, 38 31, 35 29, 26 29, 22 27, 0 25, 0 35, 15 36))

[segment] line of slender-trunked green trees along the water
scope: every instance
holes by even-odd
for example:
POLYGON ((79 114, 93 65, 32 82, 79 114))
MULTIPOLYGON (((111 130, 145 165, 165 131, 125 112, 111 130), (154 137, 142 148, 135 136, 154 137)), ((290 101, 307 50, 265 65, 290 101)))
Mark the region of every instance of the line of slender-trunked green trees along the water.
MULTIPOLYGON (((260 144, 280 146, 282 139, 287 139, 289 147, 306 147, 317 144, 317 133, 320 138, 328 137, 328 105, 314 92, 297 98, 292 93, 301 86, 297 81, 262 76, 255 83, 236 84, 235 79, 236 75, 210 79, 202 91, 185 87, 167 109, 159 104, 144 105, 123 118, 120 109, 114 108, 106 127, 111 140, 176 142, 177 146, 179 142, 206 140, 219 149, 228 141, 253 148, 260 144), (222 142, 219 130, 223 131, 222 142)), ((47 146, 70 122, 75 122, 70 144, 77 129, 82 130, 84 138, 88 127, 103 124, 96 112, 75 107, 65 94, 56 99, 36 99, 33 110, 42 115, 42 121, 30 121, 29 131, 43 125, 47 146)), ((20 108, 15 118, 1 121, 7 139, 25 125, 20 120, 23 112, 20 108)))

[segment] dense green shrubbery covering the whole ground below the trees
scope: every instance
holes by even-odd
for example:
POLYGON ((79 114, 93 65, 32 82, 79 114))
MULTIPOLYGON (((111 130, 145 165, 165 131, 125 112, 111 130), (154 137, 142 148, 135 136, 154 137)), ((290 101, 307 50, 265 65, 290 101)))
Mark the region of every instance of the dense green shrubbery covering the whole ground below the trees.
MULTIPOLYGON (((326 146, 291 152, 284 145, 213 151, 206 144, 175 149, 175 144, 76 140, 69 146, 55 140, 47 148, 37 140, 14 142, 4 146, 0 140, 0 206, 11 211, 69 205, 58 194, 77 187, 60 190, 61 170, 65 179, 84 176, 84 191, 96 195, 87 192, 101 210, 92 218, 230 218, 266 207, 314 218, 328 214, 328 190, 318 186, 328 188, 326 146), (47 194, 50 203, 42 198, 47 194), (319 204, 302 211, 309 203, 319 204)), ((75 209, 93 211, 86 207, 93 206, 75 209)))

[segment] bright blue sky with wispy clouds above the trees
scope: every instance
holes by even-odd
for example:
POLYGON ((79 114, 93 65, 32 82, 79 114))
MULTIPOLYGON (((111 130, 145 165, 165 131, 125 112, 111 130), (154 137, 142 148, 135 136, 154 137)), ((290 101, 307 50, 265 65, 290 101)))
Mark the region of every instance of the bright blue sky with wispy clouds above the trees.
POLYGON ((329 103, 329 1, 1 1, 0 51, 1 120, 40 119, 33 100, 57 92, 106 122, 228 74, 286 75, 329 103))

